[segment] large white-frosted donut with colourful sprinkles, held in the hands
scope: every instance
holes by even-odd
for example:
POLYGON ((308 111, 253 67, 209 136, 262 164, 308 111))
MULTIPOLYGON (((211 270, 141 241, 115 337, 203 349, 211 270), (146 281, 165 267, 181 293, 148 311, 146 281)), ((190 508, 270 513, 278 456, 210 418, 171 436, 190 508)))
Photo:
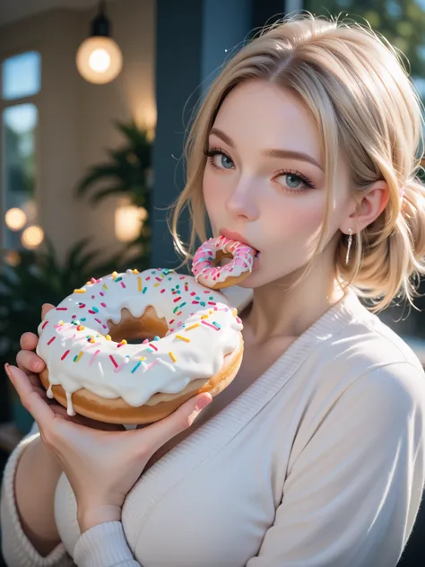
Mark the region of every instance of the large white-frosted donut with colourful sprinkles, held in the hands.
POLYGON ((152 423, 197 393, 216 396, 243 354, 242 322, 227 298, 163 269, 92 278, 38 330, 48 397, 106 423, 152 423))

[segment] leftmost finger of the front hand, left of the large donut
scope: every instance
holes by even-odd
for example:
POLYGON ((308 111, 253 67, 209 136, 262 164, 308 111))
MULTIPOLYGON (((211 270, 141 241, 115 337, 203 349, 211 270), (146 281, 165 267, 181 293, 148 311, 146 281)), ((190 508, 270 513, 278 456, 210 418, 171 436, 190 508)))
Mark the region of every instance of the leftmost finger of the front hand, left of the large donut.
POLYGON ((16 366, 5 364, 4 370, 21 398, 22 406, 30 412, 40 429, 47 428, 55 414, 48 404, 34 390, 28 376, 16 366))

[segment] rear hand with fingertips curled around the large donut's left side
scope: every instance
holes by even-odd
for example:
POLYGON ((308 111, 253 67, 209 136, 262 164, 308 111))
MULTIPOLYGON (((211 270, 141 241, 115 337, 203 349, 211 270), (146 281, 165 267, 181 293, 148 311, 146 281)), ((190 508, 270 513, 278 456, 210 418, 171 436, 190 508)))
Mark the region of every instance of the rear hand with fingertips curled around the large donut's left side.
MULTIPOLYGON (((54 305, 50 303, 45 303, 41 309, 41 320, 43 320, 48 311, 55 309, 54 305)), ((40 358, 34 351, 39 343, 39 336, 35 335, 34 333, 23 333, 21 336, 21 348, 22 350, 16 356, 16 363, 18 367, 24 372, 30 383, 35 391, 39 393, 44 401, 51 406, 52 411, 56 414, 61 415, 64 419, 68 421, 72 421, 74 423, 81 423, 82 425, 87 425, 88 427, 92 427, 93 429, 102 429, 108 431, 123 431, 125 428, 121 425, 113 425, 111 423, 101 423, 90 419, 88 417, 84 417, 82 415, 74 415, 70 417, 66 413, 66 408, 61 406, 56 402, 55 399, 50 399, 47 396, 46 390, 41 384, 39 379, 39 372, 43 371, 46 368, 46 364, 42 358, 40 358)))

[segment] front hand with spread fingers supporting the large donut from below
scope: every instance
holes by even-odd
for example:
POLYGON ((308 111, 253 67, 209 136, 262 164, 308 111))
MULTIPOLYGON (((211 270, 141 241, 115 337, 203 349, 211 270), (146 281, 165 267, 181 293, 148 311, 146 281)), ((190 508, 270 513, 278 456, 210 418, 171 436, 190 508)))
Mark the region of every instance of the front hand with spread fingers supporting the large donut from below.
POLYGON ((5 371, 73 488, 82 532, 121 518, 126 494, 152 455, 189 427, 212 401, 209 394, 200 394, 165 419, 143 429, 105 432, 74 423, 57 412, 16 366, 6 364, 5 371))

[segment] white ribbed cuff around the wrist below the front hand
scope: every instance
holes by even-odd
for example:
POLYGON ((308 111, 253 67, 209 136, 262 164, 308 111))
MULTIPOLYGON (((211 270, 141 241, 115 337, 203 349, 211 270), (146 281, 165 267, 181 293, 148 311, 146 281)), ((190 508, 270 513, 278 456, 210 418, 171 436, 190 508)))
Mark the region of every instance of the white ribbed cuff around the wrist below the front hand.
POLYGON ((141 567, 121 522, 105 522, 85 531, 74 547, 74 562, 78 567, 141 567))

